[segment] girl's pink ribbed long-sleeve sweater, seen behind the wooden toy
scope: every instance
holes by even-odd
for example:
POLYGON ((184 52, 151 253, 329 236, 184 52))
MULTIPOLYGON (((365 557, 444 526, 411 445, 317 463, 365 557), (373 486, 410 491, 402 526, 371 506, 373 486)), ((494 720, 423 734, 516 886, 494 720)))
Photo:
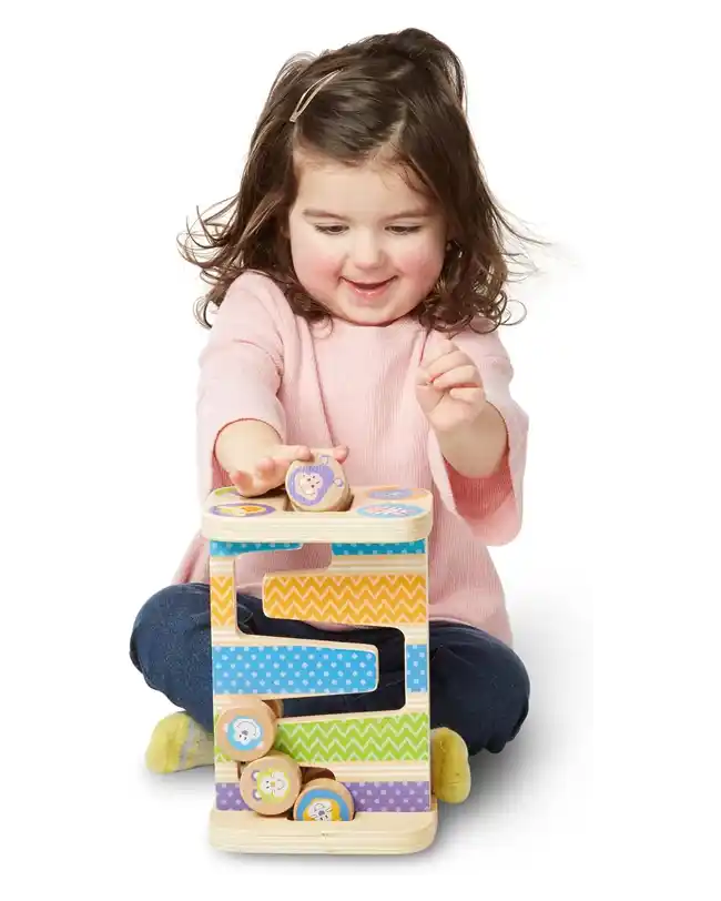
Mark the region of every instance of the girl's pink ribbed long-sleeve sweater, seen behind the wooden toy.
MULTIPOLYGON (((230 286, 200 360, 197 398, 199 489, 230 485, 215 459, 221 429, 261 419, 283 443, 331 447, 345 444, 351 484, 433 490, 429 538, 431 620, 464 622, 512 644, 504 590, 488 547, 510 541, 521 524, 528 418, 511 398, 512 367, 498 332, 454 338, 478 366, 486 396, 504 416, 508 452, 486 478, 451 469, 417 404, 416 371, 433 350, 412 320, 358 326, 335 320, 311 325, 290 308, 267 276, 244 273, 230 286)), ((236 587, 261 596, 267 571, 322 568, 326 545, 242 555, 236 587)), ((209 545, 192 540, 174 583, 209 581, 209 545)))

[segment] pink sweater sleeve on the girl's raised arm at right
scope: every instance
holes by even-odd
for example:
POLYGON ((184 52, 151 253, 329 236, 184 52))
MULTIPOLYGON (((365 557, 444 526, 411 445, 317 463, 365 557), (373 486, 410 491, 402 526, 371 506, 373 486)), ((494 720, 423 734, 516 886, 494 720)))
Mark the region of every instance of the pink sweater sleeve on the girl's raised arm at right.
POLYGON ((466 522, 479 540, 486 545, 505 545, 518 535, 521 526, 528 416, 511 397, 514 369, 497 332, 465 333, 454 342, 478 366, 486 398, 506 423, 508 445, 494 473, 483 478, 467 478, 443 457, 431 431, 428 454, 433 478, 441 502, 466 522))

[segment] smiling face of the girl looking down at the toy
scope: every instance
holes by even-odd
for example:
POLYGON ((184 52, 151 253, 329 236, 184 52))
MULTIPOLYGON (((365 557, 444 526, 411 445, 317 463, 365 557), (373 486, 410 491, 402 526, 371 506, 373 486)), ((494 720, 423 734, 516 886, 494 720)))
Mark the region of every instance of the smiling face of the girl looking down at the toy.
POLYGON ((444 216, 398 166, 297 159, 288 230, 304 288, 336 316, 385 325, 434 287, 446 246, 444 216))

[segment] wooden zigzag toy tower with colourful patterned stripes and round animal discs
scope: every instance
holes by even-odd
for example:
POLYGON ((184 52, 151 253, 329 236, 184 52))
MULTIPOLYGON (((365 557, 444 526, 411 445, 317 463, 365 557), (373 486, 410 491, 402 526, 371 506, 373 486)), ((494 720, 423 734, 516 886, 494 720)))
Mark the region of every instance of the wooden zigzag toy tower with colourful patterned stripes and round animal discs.
POLYGON ((316 454, 286 490, 213 492, 210 539, 215 803, 211 843, 265 853, 409 853, 436 834, 430 787, 428 565, 431 495, 352 488, 316 454), (326 475, 328 478, 326 479, 326 475), (328 507, 331 509, 328 509, 328 507), (268 617, 392 626, 405 638, 399 710, 283 717, 283 699, 373 691, 374 645, 244 635, 236 626, 240 554, 331 545, 327 569, 268 573, 268 617))

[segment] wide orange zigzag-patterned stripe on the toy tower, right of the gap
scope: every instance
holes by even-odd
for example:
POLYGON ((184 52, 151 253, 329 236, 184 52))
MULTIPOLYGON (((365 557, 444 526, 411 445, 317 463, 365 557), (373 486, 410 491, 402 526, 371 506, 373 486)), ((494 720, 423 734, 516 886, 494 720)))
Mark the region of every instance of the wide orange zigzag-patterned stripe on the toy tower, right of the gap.
POLYGON ((331 575, 270 573, 263 580, 267 616, 356 626, 425 622, 426 577, 417 573, 331 575))

